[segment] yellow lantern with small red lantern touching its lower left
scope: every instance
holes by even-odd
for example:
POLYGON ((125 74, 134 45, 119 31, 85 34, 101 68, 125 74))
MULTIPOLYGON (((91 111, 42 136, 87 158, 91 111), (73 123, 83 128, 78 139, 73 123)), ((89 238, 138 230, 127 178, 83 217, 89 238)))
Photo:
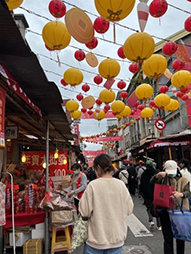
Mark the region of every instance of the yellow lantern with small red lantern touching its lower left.
POLYGON ((69 68, 64 72, 64 80, 71 86, 77 86, 83 81, 83 74, 77 68, 69 68))

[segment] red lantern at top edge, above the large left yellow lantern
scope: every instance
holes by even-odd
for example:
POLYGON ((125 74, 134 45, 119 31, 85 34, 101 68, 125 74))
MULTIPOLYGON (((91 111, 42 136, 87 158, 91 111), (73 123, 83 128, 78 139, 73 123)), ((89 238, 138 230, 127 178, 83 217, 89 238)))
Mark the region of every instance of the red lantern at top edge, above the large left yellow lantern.
POLYGON ((55 18, 62 18, 66 14, 66 6, 62 0, 50 1, 48 8, 55 18))

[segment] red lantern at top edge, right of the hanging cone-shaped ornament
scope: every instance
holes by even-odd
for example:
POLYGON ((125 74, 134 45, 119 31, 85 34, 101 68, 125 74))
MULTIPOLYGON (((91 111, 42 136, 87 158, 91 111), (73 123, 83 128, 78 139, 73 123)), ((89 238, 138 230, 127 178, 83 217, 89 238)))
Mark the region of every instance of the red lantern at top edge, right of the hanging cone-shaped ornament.
POLYGON ((168 3, 165 0, 153 0, 149 5, 149 13, 154 18, 159 18, 165 14, 168 3))

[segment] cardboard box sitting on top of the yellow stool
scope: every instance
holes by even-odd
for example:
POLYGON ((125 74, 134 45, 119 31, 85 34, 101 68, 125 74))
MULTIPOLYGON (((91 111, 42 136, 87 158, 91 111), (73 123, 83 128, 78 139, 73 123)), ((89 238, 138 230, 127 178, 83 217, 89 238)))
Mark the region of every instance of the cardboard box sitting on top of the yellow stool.
POLYGON ((67 224, 73 222, 73 211, 71 210, 61 210, 51 212, 51 222, 52 223, 62 223, 67 224))

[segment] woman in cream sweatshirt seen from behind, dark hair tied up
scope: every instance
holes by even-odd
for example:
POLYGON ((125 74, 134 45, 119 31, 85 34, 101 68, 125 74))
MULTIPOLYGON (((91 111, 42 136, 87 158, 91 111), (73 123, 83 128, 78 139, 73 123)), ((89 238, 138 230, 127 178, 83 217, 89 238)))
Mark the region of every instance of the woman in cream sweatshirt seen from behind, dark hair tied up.
POLYGON ((84 254, 121 254, 134 204, 124 183, 111 176, 107 154, 98 155, 93 167, 98 179, 88 184, 79 202, 81 216, 89 218, 84 254))

